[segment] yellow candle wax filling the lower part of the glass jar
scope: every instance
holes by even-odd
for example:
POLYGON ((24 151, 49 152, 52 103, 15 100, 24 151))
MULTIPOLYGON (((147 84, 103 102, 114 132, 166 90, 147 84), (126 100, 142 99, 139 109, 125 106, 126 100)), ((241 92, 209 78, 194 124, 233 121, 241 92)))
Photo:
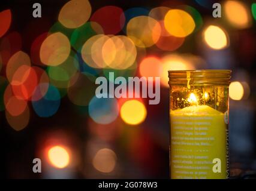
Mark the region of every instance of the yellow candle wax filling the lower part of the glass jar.
POLYGON ((209 106, 171 110, 171 178, 227 177, 227 121, 224 117, 224 113, 209 106), (218 164, 221 162, 221 168, 213 159, 218 164))

